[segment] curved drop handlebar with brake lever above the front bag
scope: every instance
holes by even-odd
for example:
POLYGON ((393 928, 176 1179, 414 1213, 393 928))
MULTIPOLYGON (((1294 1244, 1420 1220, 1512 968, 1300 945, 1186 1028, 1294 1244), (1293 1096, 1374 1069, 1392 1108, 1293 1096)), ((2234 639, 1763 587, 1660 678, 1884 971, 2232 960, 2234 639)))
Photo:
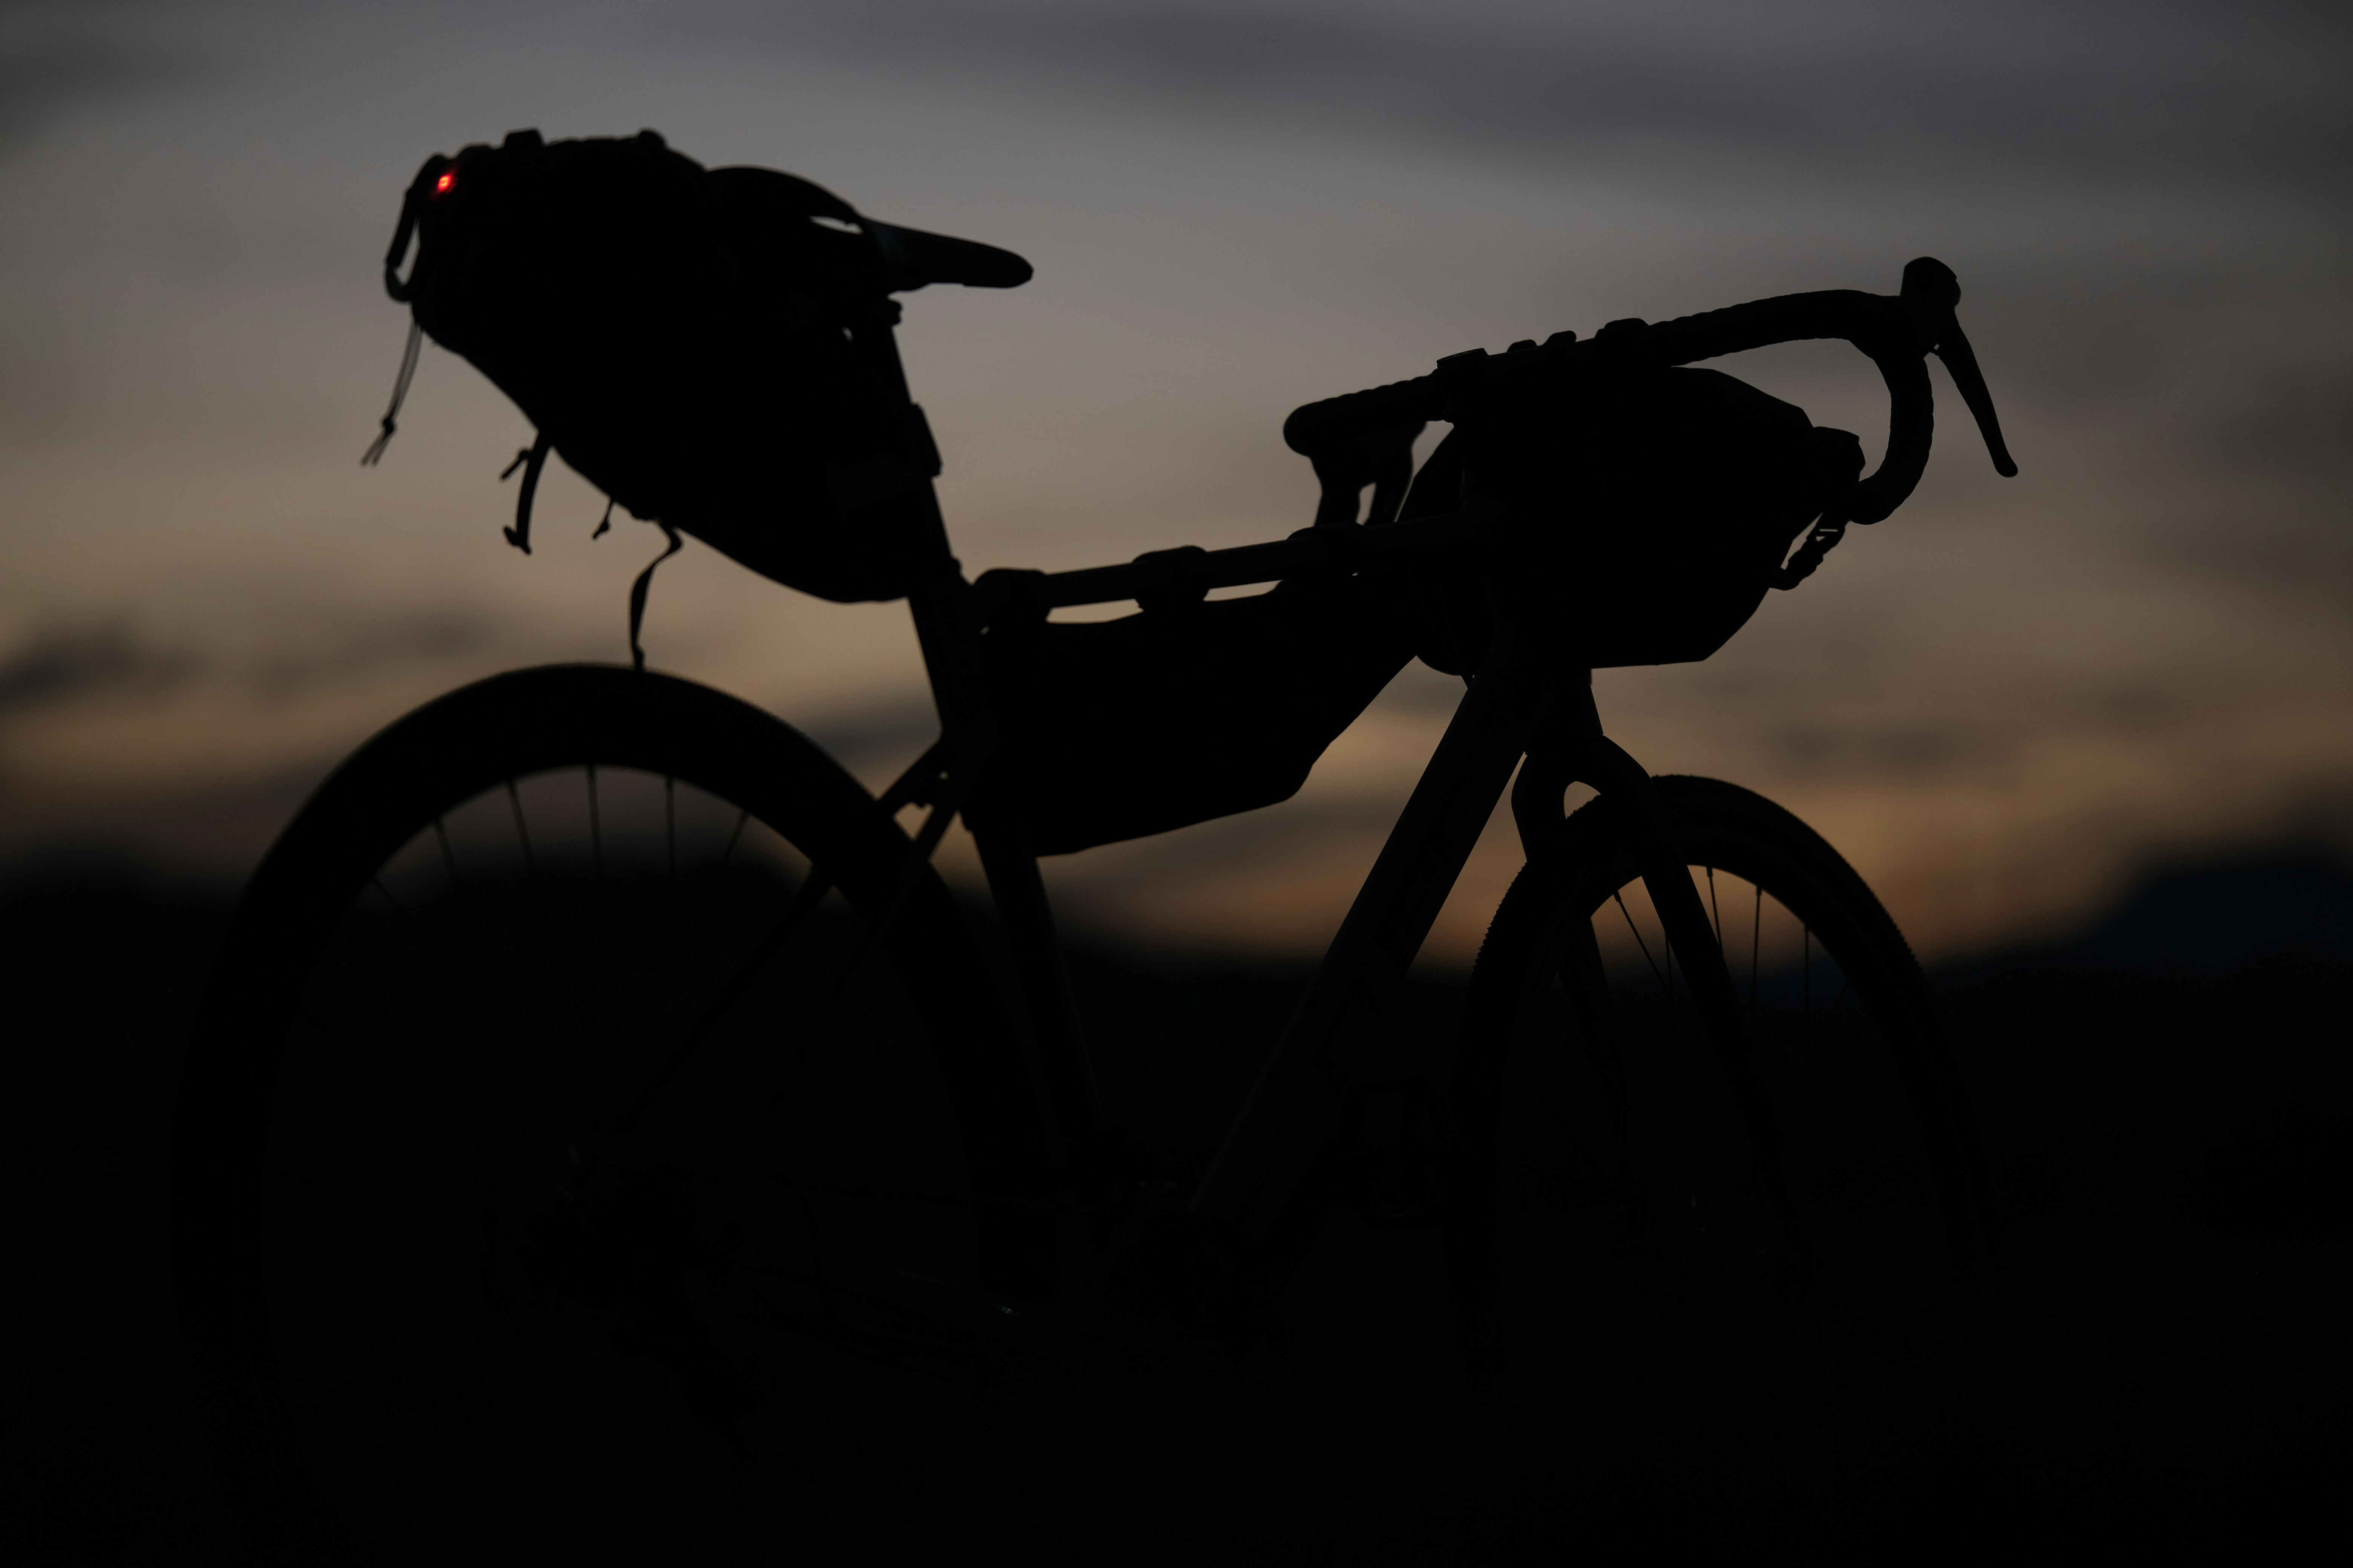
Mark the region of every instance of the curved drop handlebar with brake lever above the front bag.
MULTIPOLYGON (((1692 364, 1798 339, 1845 339, 1880 367, 1889 409, 1887 454, 1840 510, 1842 522, 1880 522, 1904 505, 1927 468, 1934 418, 1925 355, 1944 360, 1960 400, 1977 418, 1995 473, 2005 480, 2019 473, 2002 444, 2002 425, 1977 355, 1960 331, 1958 303, 1960 280, 1953 268, 1920 256, 1904 268, 1904 287, 1894 296, 1857 289, 1781 294, 1673 322, 1609 322, 1581 343, 1574 331, 1555 331, 1541 346, 1515 343, 1504 355, 1473 348, 1440 360, 1428 376, 1294 409, 1282 423, 1282 440, 1315 463, 1327 496, 1344 491, 1353 498, 1362 484, 1381 477, 1377 465, 1381 454, 1395 449, 1395 435, 1402 430, 1409 440, 1431 418, 1459 425, 1482 414, 1541 407, 1591 388, 1607 374, 1692 364)), ((1381 515, 1379 503, 1374 515, 1381 515)), ((1318 512, 1318 522, 1329 517, 1318 512)))

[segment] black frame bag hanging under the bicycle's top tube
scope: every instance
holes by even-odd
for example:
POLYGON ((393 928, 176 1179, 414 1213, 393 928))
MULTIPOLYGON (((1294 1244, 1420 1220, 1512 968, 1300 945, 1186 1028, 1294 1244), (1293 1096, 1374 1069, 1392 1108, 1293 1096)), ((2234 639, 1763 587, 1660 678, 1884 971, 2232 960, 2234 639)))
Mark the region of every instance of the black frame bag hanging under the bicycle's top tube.
MULTIPOLYGON (((1405 668, 1414 637, 1412 583, 1369 574, 991 628, 1012 752, 1000 788, 1040 856, 1273 806, 1405 668)), ((974 818, 988 806, 976 799, 974 818)))

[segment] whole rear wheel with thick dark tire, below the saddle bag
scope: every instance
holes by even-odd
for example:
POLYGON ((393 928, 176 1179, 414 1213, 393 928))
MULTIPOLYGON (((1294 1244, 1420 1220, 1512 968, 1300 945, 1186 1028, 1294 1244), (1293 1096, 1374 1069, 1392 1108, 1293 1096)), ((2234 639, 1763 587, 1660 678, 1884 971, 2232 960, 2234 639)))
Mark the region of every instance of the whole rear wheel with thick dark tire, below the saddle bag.
POLYGON ((746 1436, 812 1356, 976 1352, 1047 1288, 1040 1147, 856 780, 715 691, 527 670, 365 745, 245 891, 181 1319, 318 1474, 619 1474, 746 1436))

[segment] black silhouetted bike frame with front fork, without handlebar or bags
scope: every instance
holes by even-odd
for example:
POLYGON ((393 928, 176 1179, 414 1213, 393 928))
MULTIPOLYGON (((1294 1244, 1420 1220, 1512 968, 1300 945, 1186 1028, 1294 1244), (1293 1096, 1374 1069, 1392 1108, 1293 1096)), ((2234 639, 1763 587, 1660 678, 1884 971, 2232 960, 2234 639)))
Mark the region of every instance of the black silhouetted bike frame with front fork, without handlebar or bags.
MULTIPOLYGON (((927 802, 953 813, 984 790, 1002 755, 998 698, 981 661, 984 625, 1012 614, 1136 597, 1167 581, 1167 559, 1059 576, 962 576, 946 527, 929 498, 936 552, 927 581, 911 592, 915 635, 941 715, 941 743, 885 795, 885 804, 927 802), (946 764, 944 764, 946 759, 946 764), (920 776, 920 778, 918 778, 920 776)), ((1692 978, 1711 1041, 1734 1081, 1755 1084, 1748 1025, 1708 929, 1699 891, 1675 849, 1673 825, 1649 776, 1602 733, 1591 670, 1577 665, 1560 628, 1562 609, 1537 567, 1532 510, 1499 505, 1487 515, 1405 524, 1306 529, 1289 541, 1195 552, 1191 588, 1268 583, 1297 569, 1346 564, 1348 557, 1435 555, 1468 550, 1501 611, 1499 632, 1431 755, 1372 872, 1358 889, 1273 1056, 1228 1128, 1188 1213, 1245 1279, 1275 1284, 1289 1274, 1313 1234, 1301 1213, 1308 1175, 1334 1145, 1348 1084, 1365 1048, 1428 938, 1447 893, 1471 858, 1513 773, 1513 809, 1529 853, 1562 820, 1569 783, 1631 797, 1626 813, 1642 835, 1640 863, 1668 940, 1692 978), (1529 759, 1522 766, 1522 757, 1529 759)), ((927 825, 925 842, 936 842, 927 825)), ((1028 1030, 1047 1124, 1064 1166, 1101 1171, 1111 1145, 1085 1041, 1071 1009, 1052 903, 1031 851, 1026 823, 1002 804, 974 827, 988 893, 1012 957, 1014 992, 1028 1030)), ((1762 1093, 1744 1093, 1755 1117, 1758 1152, 1772 1133, 1762 1093)), ((1080 1175, 1080 1180, 1087 1180, 1080 1175)))

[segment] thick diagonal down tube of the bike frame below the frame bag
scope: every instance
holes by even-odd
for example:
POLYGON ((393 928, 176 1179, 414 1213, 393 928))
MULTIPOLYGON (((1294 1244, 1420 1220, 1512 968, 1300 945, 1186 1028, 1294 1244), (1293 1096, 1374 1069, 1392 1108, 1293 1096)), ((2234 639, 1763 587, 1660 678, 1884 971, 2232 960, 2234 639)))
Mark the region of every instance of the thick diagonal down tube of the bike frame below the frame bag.
POLYGON ((1527 682, 1515 665, 1489 658, 1454 710, 1315 985, 1193 1194, 1191 1211, 1209 1229, 1233 1237, 1271 1225, 1337 1131, 1348 1079, 1520 762, 1527 682))

